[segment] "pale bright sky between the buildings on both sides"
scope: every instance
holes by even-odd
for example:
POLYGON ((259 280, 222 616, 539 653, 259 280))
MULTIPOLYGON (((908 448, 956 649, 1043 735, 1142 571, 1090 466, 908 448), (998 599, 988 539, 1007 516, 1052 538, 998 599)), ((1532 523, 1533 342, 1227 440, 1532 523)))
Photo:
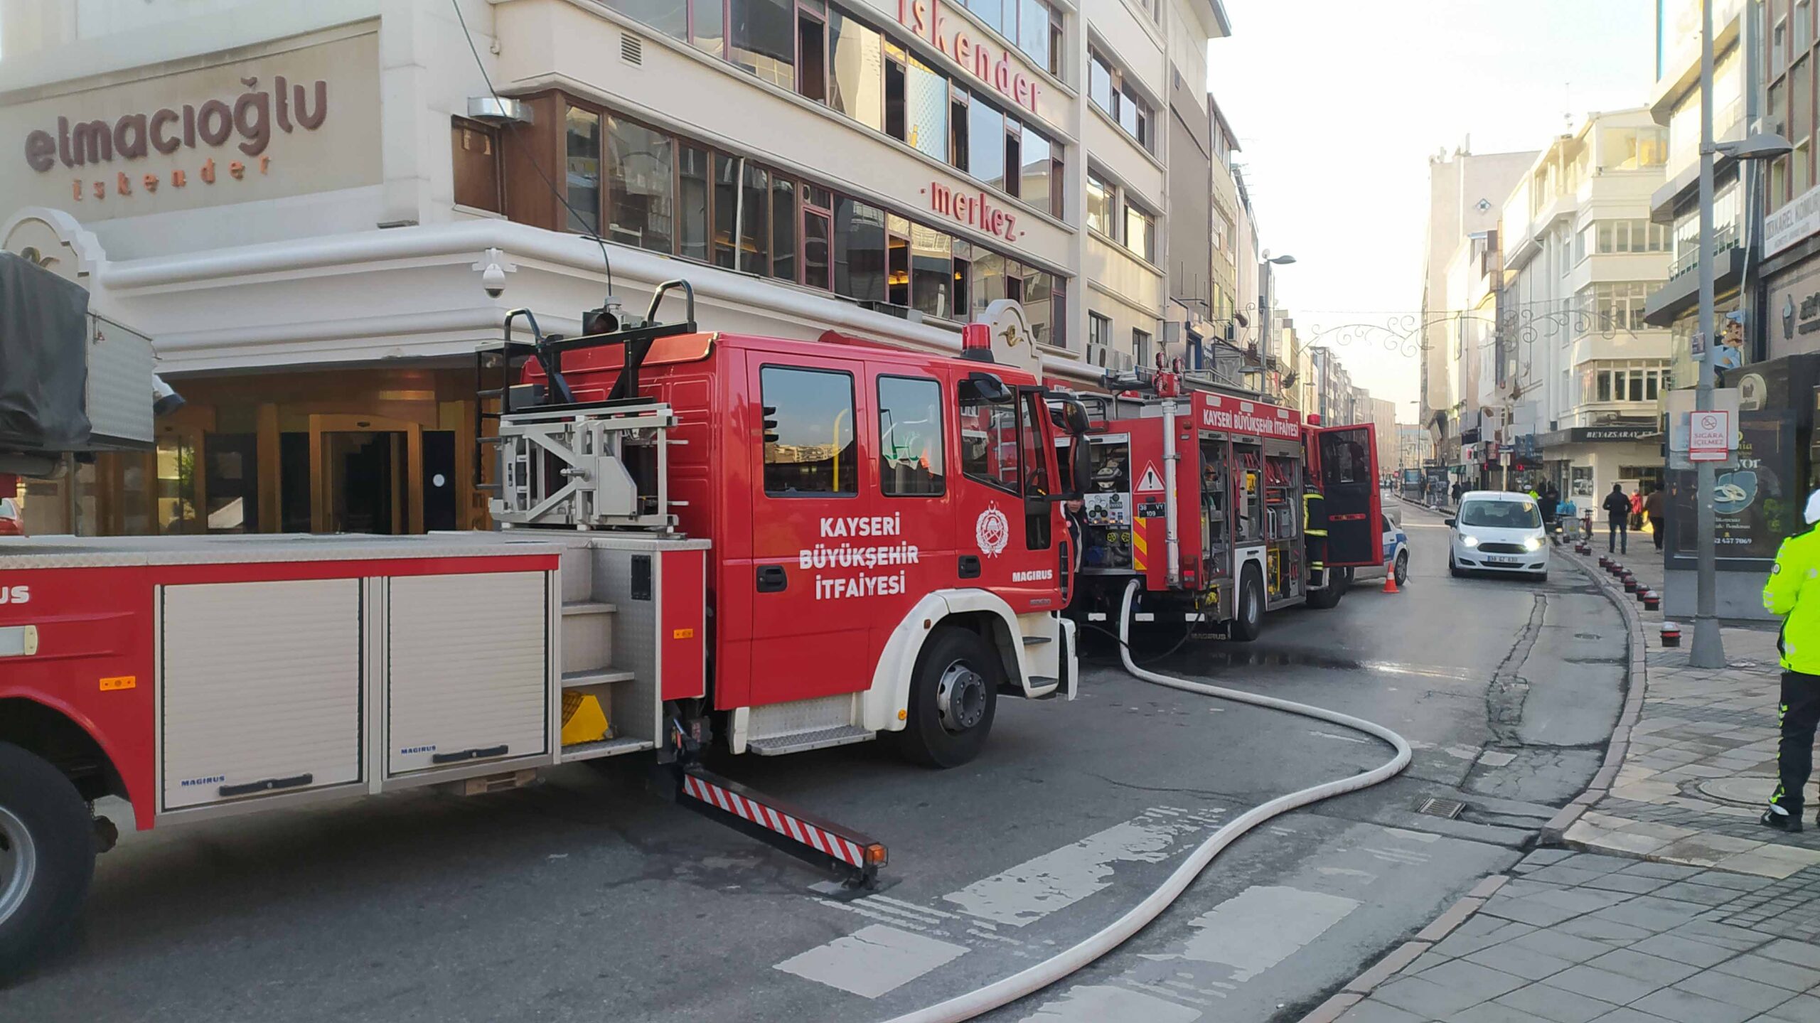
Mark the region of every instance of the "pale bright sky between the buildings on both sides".
MULTIPOLYGON (((1225 5, 1208 87, 1239 137, 1259 248, 1296 257, 1274 282, 1303 339, 1421 308, 1431 155, 1467 137, 1474 153, 1542 149, 1569 113, 1642 106, 1654 82, 1654 0, 1225 5)), ((1416 420, 1416 359, 1334 348, 1416 420)))

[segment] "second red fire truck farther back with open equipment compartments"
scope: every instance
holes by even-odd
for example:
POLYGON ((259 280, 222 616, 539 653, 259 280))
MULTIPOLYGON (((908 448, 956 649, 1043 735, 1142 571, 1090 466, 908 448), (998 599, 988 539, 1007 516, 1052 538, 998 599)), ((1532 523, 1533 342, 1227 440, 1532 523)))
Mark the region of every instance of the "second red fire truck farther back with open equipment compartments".
POLYGON ((1083 399, 1092 430, 1074 613, 1116 617, 1138 581, 1134 624, 1201 623, 1250 641, 1267 612, 1332 608, 1350 570, 1378 562, 1370 424, 1303 422, 1238 390, 1183 391, 1168 371, 1121 384, 1083 399), (1310 512, 1327 532, 1312 546, 1310 512))

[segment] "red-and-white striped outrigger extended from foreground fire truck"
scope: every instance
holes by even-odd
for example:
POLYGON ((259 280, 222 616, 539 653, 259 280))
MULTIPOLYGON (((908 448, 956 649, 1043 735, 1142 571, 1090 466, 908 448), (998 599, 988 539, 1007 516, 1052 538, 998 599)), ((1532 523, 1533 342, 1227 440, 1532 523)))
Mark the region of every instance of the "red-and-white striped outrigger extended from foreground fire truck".
POLYGON ((841 888, 870 892, 879 886, 879 868, 888 861, 885 843, 708 772, 699 763, 703 743, 675 719, 672 728, 670 768, 679 805, 832 872, 841 888))

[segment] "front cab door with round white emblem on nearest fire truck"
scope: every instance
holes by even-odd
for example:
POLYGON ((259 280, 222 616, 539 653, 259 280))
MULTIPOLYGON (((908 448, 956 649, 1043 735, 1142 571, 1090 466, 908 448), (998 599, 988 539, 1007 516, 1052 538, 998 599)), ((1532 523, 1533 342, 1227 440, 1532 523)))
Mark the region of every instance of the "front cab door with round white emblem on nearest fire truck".
POLYGON ((1056 528, 1050 501, 1059 477, 1043 393, 963 379, 957 395, 963 481, 956 584, 992 590, 1017 613, 1052 612, 1061 599, 1059 557, 1068 533, 1056 528))

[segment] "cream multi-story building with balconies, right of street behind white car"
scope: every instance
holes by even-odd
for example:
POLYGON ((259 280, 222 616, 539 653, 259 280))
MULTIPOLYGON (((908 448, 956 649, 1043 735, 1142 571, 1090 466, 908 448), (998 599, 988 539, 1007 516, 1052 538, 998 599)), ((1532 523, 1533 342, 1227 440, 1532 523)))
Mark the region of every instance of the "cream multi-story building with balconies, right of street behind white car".
POLYGON ((1642 107, 1591 115, 1503 202, 1503 291, 1480 390, 1502 402, 1512 457, 1540 462, 1576 504, 1614 482, 1662 482, 1671 339, 1643 302, 1669 273, 1669 229, 1649 220, 1665 144, 1642 107))

